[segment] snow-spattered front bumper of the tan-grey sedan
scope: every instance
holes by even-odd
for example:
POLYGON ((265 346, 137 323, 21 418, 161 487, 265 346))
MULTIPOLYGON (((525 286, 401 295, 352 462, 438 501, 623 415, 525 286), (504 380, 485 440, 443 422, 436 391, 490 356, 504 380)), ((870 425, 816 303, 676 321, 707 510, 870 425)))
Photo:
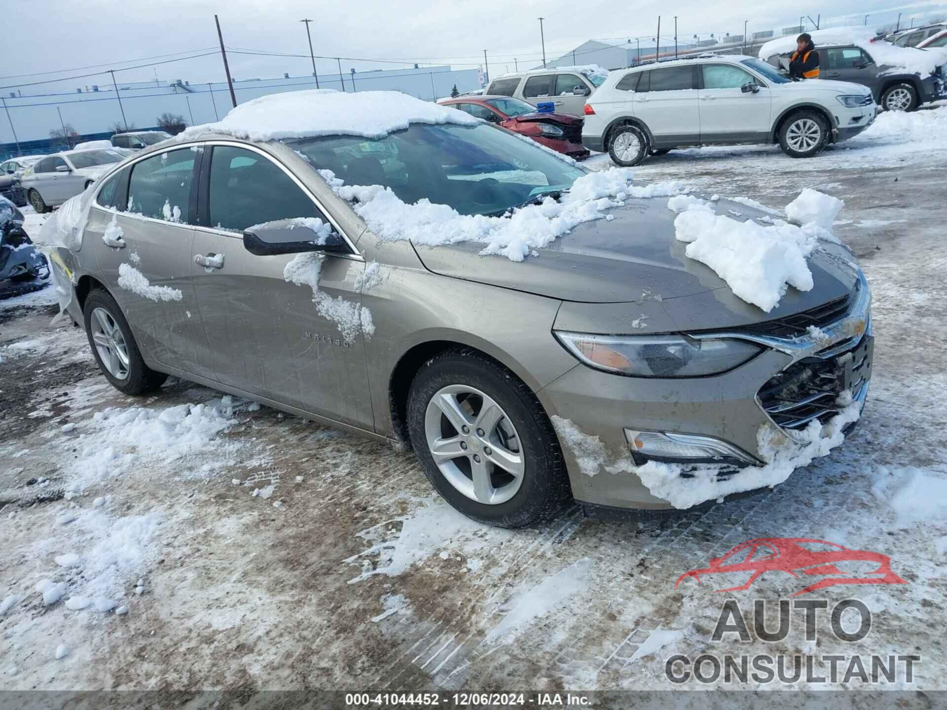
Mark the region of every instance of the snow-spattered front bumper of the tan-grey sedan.
POLYGON ((563 447, 576 500, 596 506, 670 508, 667 501, 653 496, 634 473, 626 430, 712 437, 763 465, 758 441, 762 429, 777 430, 793 438, 795 431, 809 421, 818 418, 826 423, 838 409, 834 397, 802 402, 811 395, 796 387, 795 380, 785 384, 794 387, 793 392, 802 392, 799 402, 791 407, 782 406, 792 399, 786 395, 788 389, 776 386, 783 373, 794 377, 800 369, 808 373, 806 377, 841 373, 839 377, 843 379, 838 384, 848 385, 854 399, 864 401, 871 376, 871 295, 863 275, 860 286, 845 315, 822 327, 817 339, 809 335, 774 337, 745 330, 691 333, 698 338, 741 338, 766 347, 749 363, 722 375, 644 379, 578 365, 547 385, 539 393, 546 411, 569 419, 582 434, 598 437, 604 447, 605 455, 599 456, 603 460, 596 475, 581 472, 579 457, 586 458, 587 470, 588 452, 577 453, 563 447), (868 359, 864 365, 866 352, 868 359), (809 367, 808 360, 823 362, 826 367, 809 367), (765 399, 760 399, 761 395, 765 399), (777 419, 783 426, 777 424, 777 419))

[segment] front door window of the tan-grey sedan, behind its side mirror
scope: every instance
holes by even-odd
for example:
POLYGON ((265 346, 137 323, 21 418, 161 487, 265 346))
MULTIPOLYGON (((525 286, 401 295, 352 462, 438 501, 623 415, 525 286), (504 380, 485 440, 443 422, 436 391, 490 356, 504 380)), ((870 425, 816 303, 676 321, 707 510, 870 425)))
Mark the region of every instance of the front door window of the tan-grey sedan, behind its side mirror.
MULTIPOLYGON (((374 160, 384 174, 377 158, 359 160, 374 160)), ((210 225, 232 232, 295 217, 317 217, 328 222, 309 195, 272 160, 242 148, 214 146, 207 199, 210 225)))

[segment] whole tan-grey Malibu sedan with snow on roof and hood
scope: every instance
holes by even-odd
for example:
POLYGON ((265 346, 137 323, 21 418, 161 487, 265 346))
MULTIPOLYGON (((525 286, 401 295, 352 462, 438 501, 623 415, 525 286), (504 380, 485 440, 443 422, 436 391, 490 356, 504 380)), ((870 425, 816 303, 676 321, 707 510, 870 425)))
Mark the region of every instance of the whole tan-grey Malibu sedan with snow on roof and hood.
POLYGON ((807 190, 788 222, 681 192, 313 90, 141 151, 42 237, 119 391, 174 375, 409 444, 451 505, 518 526, 773 486, 861 413, 871 296, 828 239, 841 202, 807 190))

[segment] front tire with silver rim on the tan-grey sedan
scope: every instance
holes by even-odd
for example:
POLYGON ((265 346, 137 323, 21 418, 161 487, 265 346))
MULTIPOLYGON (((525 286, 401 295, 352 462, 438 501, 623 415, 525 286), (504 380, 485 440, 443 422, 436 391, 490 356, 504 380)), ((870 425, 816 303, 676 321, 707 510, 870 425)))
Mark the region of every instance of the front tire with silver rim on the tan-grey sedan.
POLYGON ((474 350, 448 350, 421 366, 407 418, 431 485, 479 523, 536 524, 571 498, 559 440, 539 400, 474 350))

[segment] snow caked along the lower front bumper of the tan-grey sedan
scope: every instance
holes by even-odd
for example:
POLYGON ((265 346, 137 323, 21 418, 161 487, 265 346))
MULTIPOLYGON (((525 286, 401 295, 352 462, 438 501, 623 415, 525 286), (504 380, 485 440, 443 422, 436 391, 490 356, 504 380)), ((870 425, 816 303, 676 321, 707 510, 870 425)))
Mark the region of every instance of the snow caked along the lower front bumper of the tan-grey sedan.
POLYGON ((785 481, 794 470, 809 466, 814 459, 828 455, 845 440, 842 430, 857 421, 862 414, 862 402, 851 402, 824 426, 813 419, 790 439, 772 425, 760 427, 757 434, 759 453, 767 463, 738 470, 729 478, 718 479, 724 468, 716 465, 688 467, 649 461, 635 472, 652 495, 666 500, 671 506, 686 509, 706 501, 722 499, 732 493, 758 488, 773 488, 785 481), (688 471, 690 478, 682 478, 688 471))

